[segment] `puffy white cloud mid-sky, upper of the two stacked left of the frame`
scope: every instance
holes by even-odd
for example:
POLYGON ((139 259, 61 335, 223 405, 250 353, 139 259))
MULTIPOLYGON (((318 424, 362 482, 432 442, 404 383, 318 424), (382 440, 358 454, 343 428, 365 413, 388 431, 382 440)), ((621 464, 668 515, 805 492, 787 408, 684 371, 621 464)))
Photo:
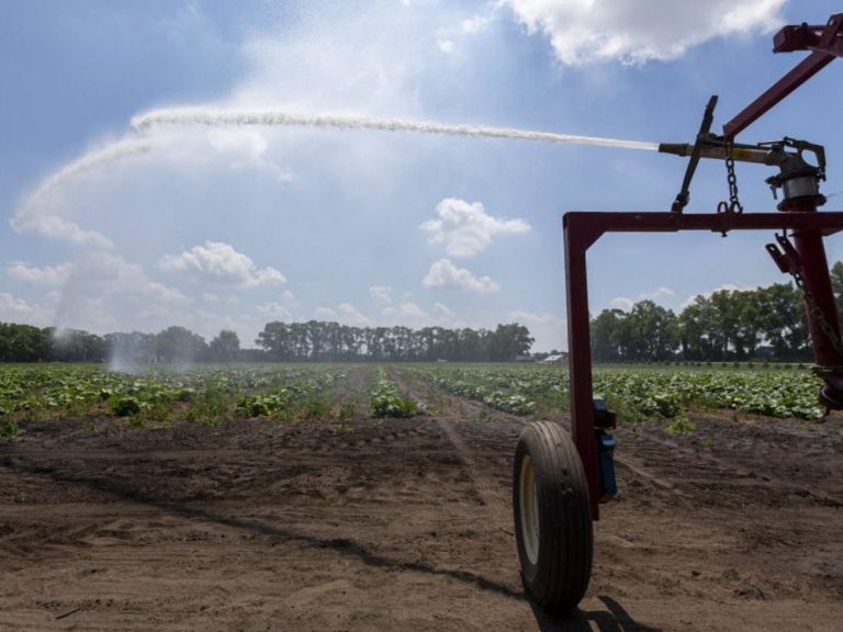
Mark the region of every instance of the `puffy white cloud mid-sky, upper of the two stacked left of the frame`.
POLYGON ((474 257, 485 250, 496 235, 527 233, 525 219, 492 217, 483 204, 446 198, 436 206, 439 219, 429 219, 422 229, 431 234, 431 244, 441 244, 451 257, 474 257))

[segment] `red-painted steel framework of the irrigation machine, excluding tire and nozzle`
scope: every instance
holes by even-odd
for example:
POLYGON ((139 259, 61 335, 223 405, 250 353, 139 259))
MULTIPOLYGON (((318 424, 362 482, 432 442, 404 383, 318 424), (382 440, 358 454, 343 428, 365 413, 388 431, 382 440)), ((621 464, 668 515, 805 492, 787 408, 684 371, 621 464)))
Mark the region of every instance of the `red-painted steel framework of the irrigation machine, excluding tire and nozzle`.
MULTIPOLYGON (((843 13, 824 26, 785 26, 774 37, 774 52, 812 50, 790 72, 723 126, 723 139, 732 140, 776 103, 785 99, 835 57, 843 56, 843 13)), ((571 382, 571 432, 588 481, 592 516, 599 519, 599 474, 593 404, 592 349, 588 315, 586 251, 605 233, 675 233, 679 230, 789 229, 800 258, 800 272, 816 309, 808 309, 817 364, 827 369, 823 379, 832 395, 843 394, 843 354, 823 331, 823 325, 840 338, 840 326, 829 279, 822 238, 843 230, 843 212, 818 213, 821 195, 797 196, 779 205, 783 213, 682 214, 566 213, 563 218, 567 297, 569 369, 571 382), (817 313, 820 312, 820 314, 817 313)), ((843 405, 843 400, 841 402, 843 405)))

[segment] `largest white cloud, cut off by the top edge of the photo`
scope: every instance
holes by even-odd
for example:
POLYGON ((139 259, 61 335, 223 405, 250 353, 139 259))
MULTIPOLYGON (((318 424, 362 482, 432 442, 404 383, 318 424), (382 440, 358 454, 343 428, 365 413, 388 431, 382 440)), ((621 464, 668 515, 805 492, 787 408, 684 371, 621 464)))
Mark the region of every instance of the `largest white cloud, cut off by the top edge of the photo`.
POLYGON ((643 64, 676 59, 698 44, 767 33, 783 23, 786 0, 502 0, 550 40, 560 61, 643 64))

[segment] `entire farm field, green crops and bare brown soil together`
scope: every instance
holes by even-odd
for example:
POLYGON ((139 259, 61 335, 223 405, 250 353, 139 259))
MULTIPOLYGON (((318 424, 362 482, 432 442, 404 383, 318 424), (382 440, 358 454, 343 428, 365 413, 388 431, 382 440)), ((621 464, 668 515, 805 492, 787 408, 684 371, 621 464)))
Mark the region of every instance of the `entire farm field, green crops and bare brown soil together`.
POLYGON ((533 364, 0 365, 0 629, 836 630, 843 417, 795 366, 596 368, 619 496, 581 610, 525 598, 533 364))

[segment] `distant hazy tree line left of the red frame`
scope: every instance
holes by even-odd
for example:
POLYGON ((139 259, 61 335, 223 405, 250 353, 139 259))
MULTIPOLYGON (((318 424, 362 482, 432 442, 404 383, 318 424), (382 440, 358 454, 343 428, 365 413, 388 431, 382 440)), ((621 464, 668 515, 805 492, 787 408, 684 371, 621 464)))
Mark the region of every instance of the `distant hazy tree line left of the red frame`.
POLYGON ((157 334, 139 331, 98 336, 80 329, 57 330, 0 323, 0 362, 156 362, 231 361, 510 361, 528 356, 533 339, 517 323, 487 329, 349 327, 338 323, 268 323, 256 349, 243 349, 236 332, 223 329, 211 342, 184 327, 157 334))

